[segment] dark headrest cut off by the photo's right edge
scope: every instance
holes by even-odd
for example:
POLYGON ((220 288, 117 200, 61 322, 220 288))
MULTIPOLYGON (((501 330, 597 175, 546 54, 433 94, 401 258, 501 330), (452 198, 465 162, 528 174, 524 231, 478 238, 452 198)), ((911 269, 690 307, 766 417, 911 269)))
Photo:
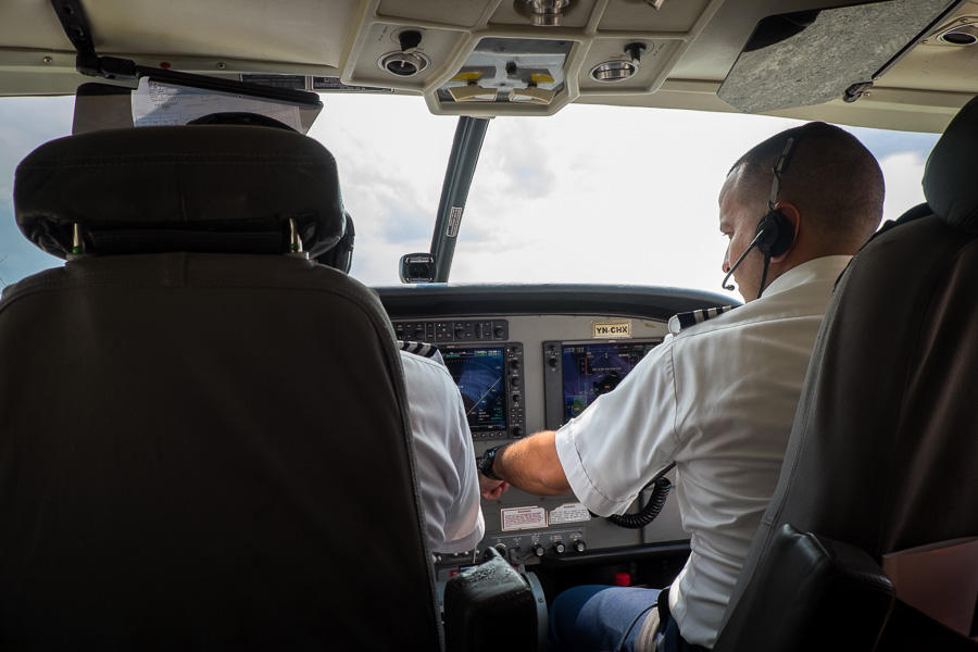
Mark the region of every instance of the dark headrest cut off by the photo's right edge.
POLYGON ((924 168, 924 197, 954 228, 978 231, 978 184, 971 164, 978 150, 978 97, 958 111, 924 168))

